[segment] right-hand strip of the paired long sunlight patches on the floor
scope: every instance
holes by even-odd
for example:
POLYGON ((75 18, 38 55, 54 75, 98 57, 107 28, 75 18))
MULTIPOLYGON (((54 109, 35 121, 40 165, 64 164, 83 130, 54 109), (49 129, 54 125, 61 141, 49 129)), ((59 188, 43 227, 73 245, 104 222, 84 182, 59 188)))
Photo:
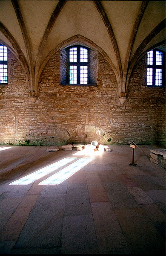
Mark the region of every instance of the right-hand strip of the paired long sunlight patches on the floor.
POLYGON ((79 171, 83 166, 94 160, 94 157, 82 157, 61 171, 55 173, 51 177, 43 180, 39 185, 57 185, 71 177, 75 172, 79 171))

